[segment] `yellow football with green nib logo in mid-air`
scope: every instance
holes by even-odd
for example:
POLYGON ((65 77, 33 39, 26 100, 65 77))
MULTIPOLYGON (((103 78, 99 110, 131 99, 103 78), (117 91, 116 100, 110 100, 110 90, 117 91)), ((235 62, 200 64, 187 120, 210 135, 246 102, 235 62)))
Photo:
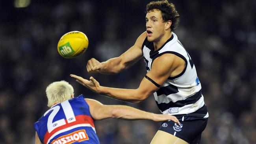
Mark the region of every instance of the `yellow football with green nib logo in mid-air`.
POLYGON ((58 42, 58 52, 65 58, 75 58, 85 52, 88 48, 88 38, 81 31, 70 31, 65 33, 58 42))

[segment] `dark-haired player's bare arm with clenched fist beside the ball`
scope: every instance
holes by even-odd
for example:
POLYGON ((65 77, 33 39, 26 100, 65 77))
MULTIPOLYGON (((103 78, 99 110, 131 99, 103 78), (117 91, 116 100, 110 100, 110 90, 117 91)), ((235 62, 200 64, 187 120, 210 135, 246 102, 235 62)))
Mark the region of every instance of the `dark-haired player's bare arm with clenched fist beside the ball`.
POLYGON ((142 57, 141 46, 147 36, 147 33, 142 33, 136 40, 135 44, 124 52, 119 57, 111 58, 104 62, 99 62, 95 58, 87 62, 87 72, 100 72, 103 74, 117 74, 122 70, 134 65, 142 57))

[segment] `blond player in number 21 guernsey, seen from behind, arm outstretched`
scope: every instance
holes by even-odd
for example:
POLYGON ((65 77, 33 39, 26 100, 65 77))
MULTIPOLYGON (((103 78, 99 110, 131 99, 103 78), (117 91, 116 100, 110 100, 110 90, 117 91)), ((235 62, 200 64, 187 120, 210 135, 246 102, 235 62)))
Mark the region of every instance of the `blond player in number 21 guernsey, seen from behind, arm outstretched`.
POLYGON ((56 81, 46 88, 50 109, 35 122, 35 144, 99 144, 95 120, 121 118, 127 120, 173 120, 175 116, 154 114, 125 105, 103 105, 80 96, 66 81, 56 81))

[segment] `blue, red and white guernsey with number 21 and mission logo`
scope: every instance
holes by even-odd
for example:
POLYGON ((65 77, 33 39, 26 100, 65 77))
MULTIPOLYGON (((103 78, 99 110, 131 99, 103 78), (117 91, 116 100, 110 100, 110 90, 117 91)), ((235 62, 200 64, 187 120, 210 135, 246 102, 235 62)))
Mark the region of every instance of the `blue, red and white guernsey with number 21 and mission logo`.
POLYGON ((34 126, 43 144, 100 143, 82 94, 53 105, 34 126))

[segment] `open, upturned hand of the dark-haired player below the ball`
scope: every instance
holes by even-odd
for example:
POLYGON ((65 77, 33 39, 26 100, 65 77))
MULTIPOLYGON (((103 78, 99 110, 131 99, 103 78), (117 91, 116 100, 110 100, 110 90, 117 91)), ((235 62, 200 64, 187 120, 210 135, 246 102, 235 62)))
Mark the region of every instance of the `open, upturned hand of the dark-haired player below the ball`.
POLYGON ((87 87, 88 89, 93 90, 94 92, 99 93, 99 87, 100 87, 100 83, 98 81, 96 81, 96 79, 94 79, 92 76, 90 77, 90 80, 84 79, 80 76, 76 76, 74 74, 70 74, 70 76, 72 78, 75 78, 76 81, 78 83, 80 83, 81 85, 87 87))

